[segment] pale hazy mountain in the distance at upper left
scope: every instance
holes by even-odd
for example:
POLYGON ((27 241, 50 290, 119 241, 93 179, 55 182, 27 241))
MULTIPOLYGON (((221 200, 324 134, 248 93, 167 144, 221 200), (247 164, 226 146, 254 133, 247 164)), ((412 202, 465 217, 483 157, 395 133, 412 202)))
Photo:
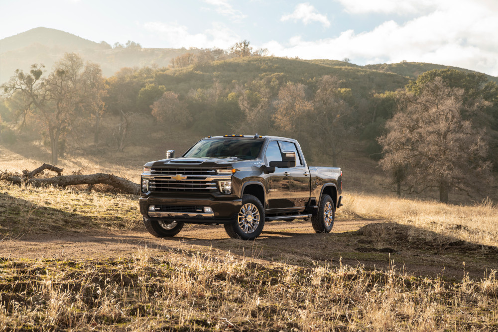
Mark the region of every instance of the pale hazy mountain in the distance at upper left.
POLYGON ((79 53, 84 60, 100 64, 105 76, 112 76, 123 67, 167 66, 172 58, 189 50, 113 49, 105 42, 96 43, 65 31, 37 27, 0 39, 0 84, 6 82, 16 69, 27 71, 33 63, 44 64, 47 70, 51 70, 66 52, 79 53))

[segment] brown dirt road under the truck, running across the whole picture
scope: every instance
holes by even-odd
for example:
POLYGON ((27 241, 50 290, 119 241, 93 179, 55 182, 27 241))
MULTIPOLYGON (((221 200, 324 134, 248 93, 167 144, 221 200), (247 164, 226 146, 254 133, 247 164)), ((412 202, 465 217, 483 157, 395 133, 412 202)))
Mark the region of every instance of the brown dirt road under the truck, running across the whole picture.
MULTIPOLYGON (((31 259, 105 259, 125 257, 148 248, 150 254, 167 252, 210 252, 218 256, 240 255, 265 261, 312 266, 316 262, 342 263, 367 268, 387 268, 389 261, 415 276, 437 276, 444 270, 450 280, 461 280, 462 258, 420 251, 361 252, 355 230, 375 220, 337 220, 329 234, 317 234, 309 221, 273 221, 265 225, 255 241, 231 239, 223 226, 185 225, 173 238, 159 239, 143 230, 91 230, 57 234, 24 235, 17 240, 0 242, 0 256, 31 259)), ((482 278, 495 262, 468 260, 471 278, 482 278)))

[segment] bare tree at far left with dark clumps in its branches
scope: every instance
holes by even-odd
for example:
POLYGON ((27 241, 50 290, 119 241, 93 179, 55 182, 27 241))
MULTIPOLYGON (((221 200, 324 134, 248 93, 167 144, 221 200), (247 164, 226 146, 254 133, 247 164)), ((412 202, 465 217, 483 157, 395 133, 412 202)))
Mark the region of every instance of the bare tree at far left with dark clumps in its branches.
MULTIPOLYGON (((88 63, 76 53, 66 53, 53 72, 42 79, 43 65, 32 65, 30 74, 16 70, 2 85, 7 97, 20 93, 24 113, 34 113, 50 138, 51 162, 57 164, 59 141, 71 130, 75 119, 86 117, 100 105, 102 75, 98 65, 88 63)), ((101 108, 101 107, 99 107, 101 108)))

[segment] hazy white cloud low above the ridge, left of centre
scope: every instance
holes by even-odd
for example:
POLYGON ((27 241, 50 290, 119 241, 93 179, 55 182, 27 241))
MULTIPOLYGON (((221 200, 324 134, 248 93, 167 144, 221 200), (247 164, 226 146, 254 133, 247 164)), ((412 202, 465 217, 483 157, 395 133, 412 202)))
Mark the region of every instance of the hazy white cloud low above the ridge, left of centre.
POLYGON ((221 23, 213 23, 211 29, 192 34, 185 25, 177 23, 147 22, 144 28, 155 33, 155 38, 168 43, 167 47, 229 48, 241 39, 239 35, 221 23))

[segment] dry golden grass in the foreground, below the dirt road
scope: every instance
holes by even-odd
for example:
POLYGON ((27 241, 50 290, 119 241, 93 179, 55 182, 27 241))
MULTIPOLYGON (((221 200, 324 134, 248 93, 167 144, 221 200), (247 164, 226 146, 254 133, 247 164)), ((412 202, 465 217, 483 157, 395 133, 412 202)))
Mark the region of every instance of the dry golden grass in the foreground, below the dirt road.
POLYGON ((3 258, 0 331, 496 331, 481 281, 301 268, 207 252, 105 261, 3 258))

